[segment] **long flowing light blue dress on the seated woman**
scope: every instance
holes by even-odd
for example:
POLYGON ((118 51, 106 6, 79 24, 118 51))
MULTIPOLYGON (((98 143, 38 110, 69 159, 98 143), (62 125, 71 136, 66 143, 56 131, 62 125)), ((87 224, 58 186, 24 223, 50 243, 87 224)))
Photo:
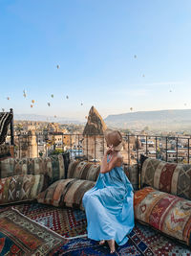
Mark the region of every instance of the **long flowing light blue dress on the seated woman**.
POLYGON ((82 200, 88 238, 114 239, 118 245, 126 244, 127 235, 134 228, 134 193, 122 166, 100 173, 95 187, 87 191, 82 200))

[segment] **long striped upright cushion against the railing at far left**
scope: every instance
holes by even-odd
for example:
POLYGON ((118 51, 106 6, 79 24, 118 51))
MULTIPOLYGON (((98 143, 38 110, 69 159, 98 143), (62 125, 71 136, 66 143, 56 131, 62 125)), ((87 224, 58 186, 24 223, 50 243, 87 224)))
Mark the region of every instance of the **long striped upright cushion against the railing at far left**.
POLYGON ((0 162, 0 175, 45 175, 49 184, 65 177, 64 159, 61 154, 50 157, 9 158, 0 162))

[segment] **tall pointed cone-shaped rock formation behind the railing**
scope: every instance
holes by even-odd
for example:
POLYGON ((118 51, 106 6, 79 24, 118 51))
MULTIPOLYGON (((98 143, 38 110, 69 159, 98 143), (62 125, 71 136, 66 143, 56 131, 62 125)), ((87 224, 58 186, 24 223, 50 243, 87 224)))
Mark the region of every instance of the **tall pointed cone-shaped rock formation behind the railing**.
POLYGON ((107 129, 102 117, 97 112, 95 106, 92 106, 87 124, 83 130, 82 148, 84 155, 89 160, 101 160, 105 151, 104 131, 107 129))

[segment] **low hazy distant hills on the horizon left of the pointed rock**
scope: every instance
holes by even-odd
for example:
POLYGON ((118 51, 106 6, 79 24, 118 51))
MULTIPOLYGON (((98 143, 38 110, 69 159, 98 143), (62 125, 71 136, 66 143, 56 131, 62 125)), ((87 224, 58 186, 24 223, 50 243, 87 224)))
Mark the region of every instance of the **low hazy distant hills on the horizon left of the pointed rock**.
POLYGON ((81 124, 80 121, 73 118, 69 119, 66 117, 54 117, 35 114, 14 114, 14 120, 56 122, 60 124, 81 124))

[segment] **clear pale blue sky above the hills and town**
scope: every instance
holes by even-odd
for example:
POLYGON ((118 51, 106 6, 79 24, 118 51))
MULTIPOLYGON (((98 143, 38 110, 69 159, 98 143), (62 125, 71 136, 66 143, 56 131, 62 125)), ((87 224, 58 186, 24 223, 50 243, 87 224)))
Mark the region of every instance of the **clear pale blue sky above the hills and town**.
POLYGON ((92 105, 191 108, 190 45, 190 0, 0 0, 0 107, 81 121, 92 105))

